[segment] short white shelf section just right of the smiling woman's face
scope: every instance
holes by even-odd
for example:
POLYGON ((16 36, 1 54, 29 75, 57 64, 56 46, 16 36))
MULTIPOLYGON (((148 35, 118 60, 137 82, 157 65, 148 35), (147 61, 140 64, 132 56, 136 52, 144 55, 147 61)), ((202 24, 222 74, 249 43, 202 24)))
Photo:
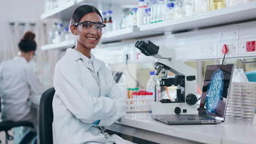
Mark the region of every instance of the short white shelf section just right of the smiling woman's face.
POLYGON ((120 29, 117 31, 107 32, 102 37, 102 43, 110 43, 124 39, 135 39, 140 37, 148 37, 150 35, 163 34, 163 32, 141 32, 137 27, 120 29))

